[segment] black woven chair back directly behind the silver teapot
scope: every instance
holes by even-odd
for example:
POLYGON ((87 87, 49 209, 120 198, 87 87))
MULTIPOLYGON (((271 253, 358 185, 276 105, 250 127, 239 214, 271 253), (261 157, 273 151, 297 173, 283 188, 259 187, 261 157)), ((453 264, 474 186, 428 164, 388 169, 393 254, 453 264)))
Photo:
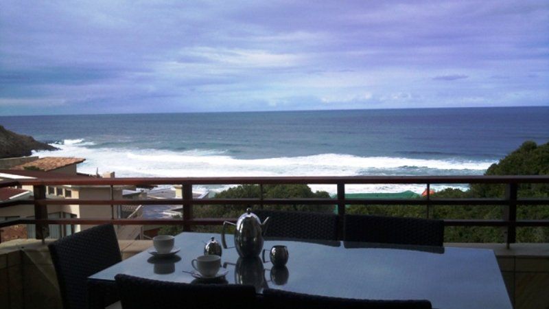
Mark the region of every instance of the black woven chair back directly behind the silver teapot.
POLYGON ((309 211, 255 209, 261 222, 270 217, 266 238, 296 238, 305 240, 337 240, 338 216, 309 211))

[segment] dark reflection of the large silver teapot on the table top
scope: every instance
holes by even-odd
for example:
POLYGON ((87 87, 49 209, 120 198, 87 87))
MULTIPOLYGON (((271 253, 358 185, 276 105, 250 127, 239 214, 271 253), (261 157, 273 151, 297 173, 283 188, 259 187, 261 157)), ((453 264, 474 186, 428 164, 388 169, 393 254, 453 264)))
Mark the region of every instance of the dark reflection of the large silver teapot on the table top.
MULTIPOLYGON (((226 264, 233 263, 224 263, 226 264)), ((268 288, 265 280, 263 262, 259 257, 256 258, 238 258, 235 265, 235 284, 247 284, 255 286, 255 291, 261 293, 261 290, 268 288)))

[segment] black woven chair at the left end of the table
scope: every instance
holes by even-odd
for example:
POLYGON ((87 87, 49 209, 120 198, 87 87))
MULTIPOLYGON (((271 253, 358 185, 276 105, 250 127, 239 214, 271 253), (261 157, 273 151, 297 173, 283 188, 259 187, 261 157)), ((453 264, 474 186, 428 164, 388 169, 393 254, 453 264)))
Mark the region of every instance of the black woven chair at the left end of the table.
POLYGON ((85 229, 48 245, 56 268, 63 308, 105 308, 119 299, 116 284, 87 278, 121 261, 113 225, 85 229))

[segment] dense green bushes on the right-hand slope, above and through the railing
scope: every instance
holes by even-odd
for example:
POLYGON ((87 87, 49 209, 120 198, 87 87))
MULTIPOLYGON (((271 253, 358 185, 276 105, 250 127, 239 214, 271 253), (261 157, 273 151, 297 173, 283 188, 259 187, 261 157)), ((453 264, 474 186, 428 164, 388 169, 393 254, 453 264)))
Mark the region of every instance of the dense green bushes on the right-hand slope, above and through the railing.
MULTIPOLYGON (((494 163, 485 175, 547 175, 549 174, 549 143, 537 146, 526 141, 498 163, 494 163)), ((518 196, 549 196, 549 185, 533 183, 520 185, 518 196)), ((504 198, 504 185, 471 184, 470 189, 446 189, 432 194, 431 198, 504 198)), ((504 207, 499 205, 453 206, 441 205, 431 208, 430 218, 439 219, 501 219, 504 207)), ((406 216, 425 218, 425 206, 414 205, 352 205, 349 214, 377 214, 382 216, 406 216)), ((517 219, 548 219, 549 205, 519 205, 517 219)), ((504 229, 500 227, 447 227, 446 242, 504 242, 504 229)), ((549 229, 544 227, 517 228, 517 242, 549 242, 549 229)))

